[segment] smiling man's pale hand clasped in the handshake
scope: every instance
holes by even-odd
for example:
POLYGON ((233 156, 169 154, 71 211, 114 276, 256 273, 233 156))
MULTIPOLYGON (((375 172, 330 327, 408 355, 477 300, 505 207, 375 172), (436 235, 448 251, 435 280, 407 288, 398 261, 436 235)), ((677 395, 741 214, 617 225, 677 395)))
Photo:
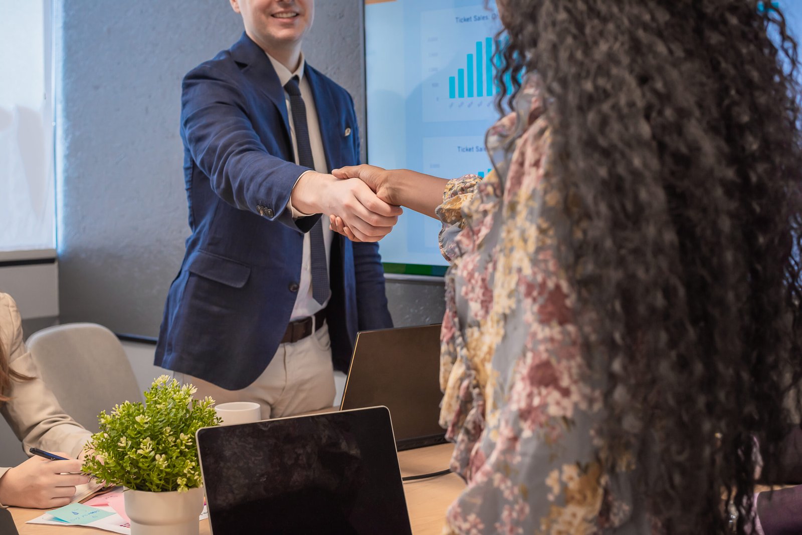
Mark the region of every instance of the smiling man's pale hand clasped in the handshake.
POLYGON ((389 234, 403 213, 379 199, 362 180, 317 172, 302 175, 290 199, 295 209, 306 214, 337 214, 354 237, 364 242, 376 242, 389 234))

